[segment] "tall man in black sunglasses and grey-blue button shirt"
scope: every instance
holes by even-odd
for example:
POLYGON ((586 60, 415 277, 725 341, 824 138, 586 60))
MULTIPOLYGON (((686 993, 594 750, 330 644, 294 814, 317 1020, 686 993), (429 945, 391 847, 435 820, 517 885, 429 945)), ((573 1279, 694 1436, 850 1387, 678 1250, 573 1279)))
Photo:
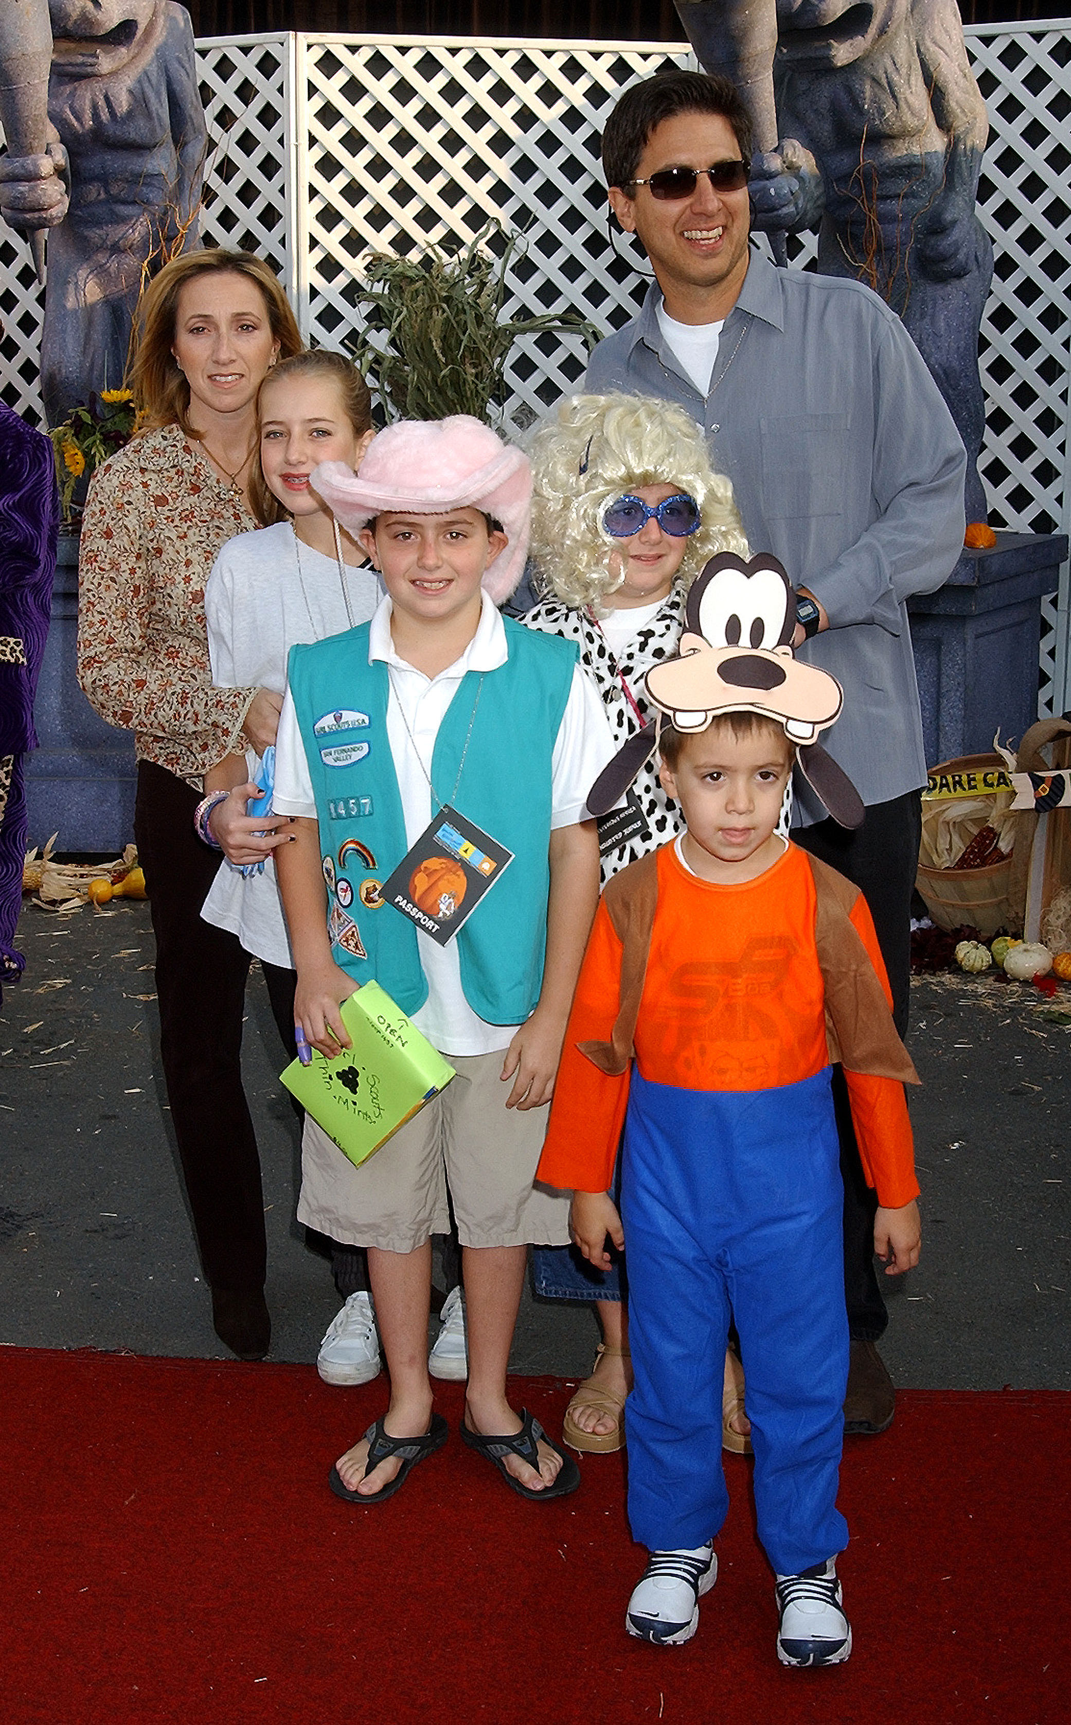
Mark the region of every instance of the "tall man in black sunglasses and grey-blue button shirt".
MULTIPOLYGON (((859 788, 845 833, 805 788, 793 838, 866 895, 907 1028, 911 892, 926 781, 907 599, 935 592, 962 550, 966 455, 900 319, 857 281, 774 269, 750 247, 752 164, 736 90, 673 71, 633 85, 602 135, 617 223, 654 271, 643 309, 592 354, 585 386, 676 402, 704 426, 754 550, 797 585, 795 643, 845 690, 828 749, 859 788)), ((769 172, 767 172, 769 171, 769 172)), ((893 1385, 876 1342, 888 1314, 840 1073, 845 1299, 852 1368, 845 1430, 883 1432, 893 1385)))

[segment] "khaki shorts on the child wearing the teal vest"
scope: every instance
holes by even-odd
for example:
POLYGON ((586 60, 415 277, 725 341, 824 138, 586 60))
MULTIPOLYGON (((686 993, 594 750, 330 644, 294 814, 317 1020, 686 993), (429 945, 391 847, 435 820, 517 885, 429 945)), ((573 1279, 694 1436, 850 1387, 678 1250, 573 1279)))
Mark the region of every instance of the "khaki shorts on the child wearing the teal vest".
POLYGON ((547 1109, 505 1106, 504 1059, 452 1056, 457 1078, 360 1168, 307 1118, 298 1221, 343 1245, 412 1252, 450 1232, 448 1185, 462 1245, 567 1245, 569 1195, 531 1183, 547 1109))

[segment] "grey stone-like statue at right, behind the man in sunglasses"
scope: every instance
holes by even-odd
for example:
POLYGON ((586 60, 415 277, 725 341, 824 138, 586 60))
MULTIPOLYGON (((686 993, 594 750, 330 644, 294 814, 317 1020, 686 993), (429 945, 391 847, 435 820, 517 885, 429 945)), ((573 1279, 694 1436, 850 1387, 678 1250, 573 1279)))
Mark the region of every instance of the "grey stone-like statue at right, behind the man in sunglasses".
POLYGON ((771 238, 817 226, 817 267, 900 314, 968 448, 968 521, 985 521, 978 326, 993 248, 974 198, 988 121, 955 0, 678 0, 678 12, 755 121, 755 226, 771 238))

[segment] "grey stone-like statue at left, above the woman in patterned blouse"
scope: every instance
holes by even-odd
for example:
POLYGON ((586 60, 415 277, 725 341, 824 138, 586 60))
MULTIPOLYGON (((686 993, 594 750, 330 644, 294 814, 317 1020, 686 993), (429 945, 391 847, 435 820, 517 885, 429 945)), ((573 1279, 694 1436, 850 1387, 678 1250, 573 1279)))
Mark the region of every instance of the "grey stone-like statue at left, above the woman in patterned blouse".
MULTIPOLYGON (((3 0, 14 24, 0 34, 0 90, 21 88, 24 107, 28 55, 10 36, 22 12, 33 33, 34 3, 3 0)), ((33 154, 9 141, 0 214, 31 236, 48 229, 41 392, 59 424, 122 383, 145 274, 197 243, 205 116, 185 7, 48 0, 48 12, 47 138, 33 154)))

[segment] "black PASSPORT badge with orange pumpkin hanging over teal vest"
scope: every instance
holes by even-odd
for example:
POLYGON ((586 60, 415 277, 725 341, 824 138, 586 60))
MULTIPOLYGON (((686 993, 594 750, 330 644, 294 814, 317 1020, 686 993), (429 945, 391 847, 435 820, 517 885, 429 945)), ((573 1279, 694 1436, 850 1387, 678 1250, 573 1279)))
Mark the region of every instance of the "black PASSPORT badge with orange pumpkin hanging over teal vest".
POLYGON ((512 850, 445 807, 385 880, 383 902, 445 947, 512 859, 512 850))

